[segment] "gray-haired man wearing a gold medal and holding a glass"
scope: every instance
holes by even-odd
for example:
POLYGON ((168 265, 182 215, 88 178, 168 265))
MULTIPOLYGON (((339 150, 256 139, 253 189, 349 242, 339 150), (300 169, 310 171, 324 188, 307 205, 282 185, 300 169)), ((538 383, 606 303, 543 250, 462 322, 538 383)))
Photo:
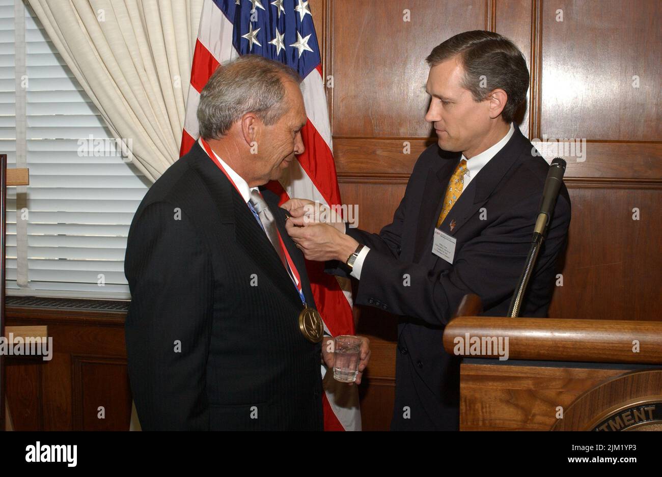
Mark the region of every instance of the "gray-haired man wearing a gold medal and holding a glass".
MULTIPOLYGON (((136 211, 126 351, 142 429, 323 429, 320 357, 334 367, 332 340, 287 212, 261 188, 304 151, 300 83, 260 56, 216 69, 201 138, 136 211)), ((357 384, 369 357, 361 338, 357 384)))

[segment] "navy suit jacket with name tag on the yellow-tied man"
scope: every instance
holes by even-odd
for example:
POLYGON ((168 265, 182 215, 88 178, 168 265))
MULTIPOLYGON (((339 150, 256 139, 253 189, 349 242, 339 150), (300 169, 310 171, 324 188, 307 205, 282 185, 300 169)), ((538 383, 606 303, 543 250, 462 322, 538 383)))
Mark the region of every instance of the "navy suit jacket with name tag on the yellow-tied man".
MULTIPOLYGON (((444 325, 461 298, 477 294, 483 314, 506 316, 531 246, 549 165, 519 128, 471 180, 442 222, 457 239, 453 263, 432 253, 434 228, 460 154, 427 148, 404 198, 379 234, 349 228, 370 247, 355 303, 402 316, 398 327, 396 398, 391 429, 457 429, 459 359, 442 345, 444 325), (455 222, 453 230, 451 221, 455 222)), ((561 187, 520 316, 546 316, 557 256, 570 223, 561 187)), ((344 265, 328 270, 347 275, 344 265)))

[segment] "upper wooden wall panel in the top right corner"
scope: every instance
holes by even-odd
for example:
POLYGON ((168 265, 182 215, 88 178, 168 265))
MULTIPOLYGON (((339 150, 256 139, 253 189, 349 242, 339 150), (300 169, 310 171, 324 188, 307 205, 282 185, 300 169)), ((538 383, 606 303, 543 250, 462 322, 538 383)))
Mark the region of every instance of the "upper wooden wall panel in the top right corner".
POLYGON ((544 2, 542 132, 662 140, 661 15, 657 0, 544 2), (563 21, 557 21, 559 10, 563 21), (633 87, 634 75, 639 87, 633 87))

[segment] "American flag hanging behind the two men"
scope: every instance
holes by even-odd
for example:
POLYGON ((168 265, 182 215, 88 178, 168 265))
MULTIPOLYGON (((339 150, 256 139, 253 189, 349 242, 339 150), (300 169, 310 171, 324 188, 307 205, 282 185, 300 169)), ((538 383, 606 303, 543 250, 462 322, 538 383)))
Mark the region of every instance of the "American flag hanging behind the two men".
MULTIPOLYGON (((308 122, 301 130, 305 152, 279 182, 267 185, 281 197, 342 204, 333 160, 331 128, 322 65, 310 6, 304 0, 205 0, 198 29, 191 86, 179 155, 199 137, 196 110, 200 92, 216 67, 244 54, 258 54, 293 67, 301 77, 308 122)), ((354 334, 352 295, 347 281, 324 273, 324 264, 307 261, 310 286, 331 335, 354 334)), ((326 371, 322 367, 322 373, 326 371)), ((325 380, 324 429, 360 430, 357 386, 325 380), (342 405, 340 404, 342 403, 342 405)))

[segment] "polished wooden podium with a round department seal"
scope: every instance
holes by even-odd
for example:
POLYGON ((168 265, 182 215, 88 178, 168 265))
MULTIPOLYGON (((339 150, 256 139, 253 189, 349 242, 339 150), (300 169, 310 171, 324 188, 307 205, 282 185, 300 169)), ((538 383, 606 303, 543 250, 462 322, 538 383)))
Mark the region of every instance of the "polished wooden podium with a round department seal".
POLYGON ((662 322, 479 312, 465 296, 444 330, 460 430, 662 430, 662 322))

